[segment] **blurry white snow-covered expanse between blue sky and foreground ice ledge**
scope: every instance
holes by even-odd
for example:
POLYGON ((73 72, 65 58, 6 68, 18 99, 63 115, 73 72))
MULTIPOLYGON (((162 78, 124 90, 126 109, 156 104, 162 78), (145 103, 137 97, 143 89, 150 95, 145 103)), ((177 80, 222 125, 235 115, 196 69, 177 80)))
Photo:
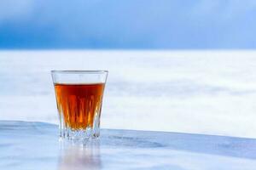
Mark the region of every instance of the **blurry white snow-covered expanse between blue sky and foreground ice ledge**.
POLYGON ((102 127, 256 138, 254 51, 1 51, 0 119, 57 123, 50 70, 108 70, 102 127))

